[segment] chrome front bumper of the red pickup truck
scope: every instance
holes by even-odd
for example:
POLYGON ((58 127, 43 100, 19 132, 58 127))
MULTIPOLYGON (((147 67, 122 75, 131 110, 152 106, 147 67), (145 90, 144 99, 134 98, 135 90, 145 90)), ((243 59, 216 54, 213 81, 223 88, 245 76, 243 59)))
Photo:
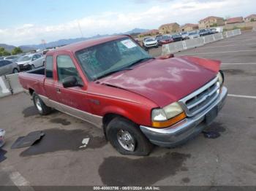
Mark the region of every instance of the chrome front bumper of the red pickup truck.
POLYGON ((227 88, 222 87, 222 92, 219 94, 217 100, 195 116, 187 117, 168 128, 158 129, 140 125, 140 130, 142 130, 152 144, 160 147, 176 147, 201 133, 207 127, 205 120, 206 114, 211 112, 216 106, 219 112, 225 104, 226 97, 227 88))

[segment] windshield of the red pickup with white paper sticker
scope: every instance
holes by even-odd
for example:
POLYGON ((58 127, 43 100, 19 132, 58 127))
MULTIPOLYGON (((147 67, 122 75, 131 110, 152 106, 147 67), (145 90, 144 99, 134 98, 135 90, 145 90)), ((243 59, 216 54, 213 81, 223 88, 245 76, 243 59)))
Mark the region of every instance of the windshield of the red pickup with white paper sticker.
POLYGON ((128 37, 79 50, 76 57, 89 80, 106 77, 152 58, 128 37))

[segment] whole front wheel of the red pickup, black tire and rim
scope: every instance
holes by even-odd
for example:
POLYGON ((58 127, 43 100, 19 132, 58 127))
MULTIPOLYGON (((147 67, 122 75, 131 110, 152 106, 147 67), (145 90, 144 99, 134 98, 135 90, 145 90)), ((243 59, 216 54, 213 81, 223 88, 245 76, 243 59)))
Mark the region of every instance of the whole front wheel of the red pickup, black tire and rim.
POLYGON ((106 135, 110 144, 122 155, 149 155, 152 144, 138 125, 124 117, 116 117, 108 123, 106 135))

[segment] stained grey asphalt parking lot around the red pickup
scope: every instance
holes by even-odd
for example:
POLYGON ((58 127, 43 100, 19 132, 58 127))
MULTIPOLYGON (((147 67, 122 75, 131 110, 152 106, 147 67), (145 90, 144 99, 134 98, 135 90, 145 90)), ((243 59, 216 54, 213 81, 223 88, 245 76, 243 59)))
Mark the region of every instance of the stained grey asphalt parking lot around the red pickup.
MULTIPOLYGON (((160 49, 150 52, 159 55, 160 49)), ((0 185, 256 186, 256 32, 175 55, 222 61, 230 95, 210 127, 219 138, 200 135, 175 149, 155 147, 148 157, 122 156, 102 130, 60 112, 41 117, 20 93, 0 99, 0 128, 7 130, 0 185), (19 136, 34 130, 44 130, 48 139, 10 149, 19 136), (89 146, 79 149, 86 137, 89 146)))

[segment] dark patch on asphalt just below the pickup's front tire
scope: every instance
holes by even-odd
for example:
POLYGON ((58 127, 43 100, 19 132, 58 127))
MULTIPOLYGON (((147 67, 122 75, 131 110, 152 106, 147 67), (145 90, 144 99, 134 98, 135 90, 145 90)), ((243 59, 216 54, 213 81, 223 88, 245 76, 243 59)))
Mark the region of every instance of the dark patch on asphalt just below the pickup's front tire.
POLYGON ((175 175, 178 171, 187 171, 184 162, 190 154, 167 152, 159 157, 107 157, 99 166, 99 176, 105 185, 148 186, 175 175))

